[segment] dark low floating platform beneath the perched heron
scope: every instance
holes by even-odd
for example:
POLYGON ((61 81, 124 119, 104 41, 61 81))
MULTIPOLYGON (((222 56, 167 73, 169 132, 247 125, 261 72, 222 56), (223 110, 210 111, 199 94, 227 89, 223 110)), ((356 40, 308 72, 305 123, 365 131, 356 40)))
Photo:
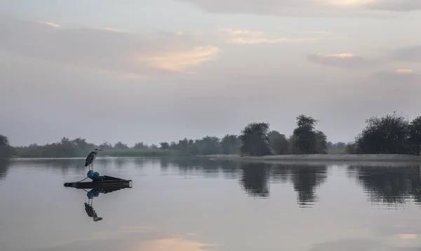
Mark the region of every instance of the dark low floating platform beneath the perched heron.
POLYGON ((68 182, 66 187, 74 187, 76 189, 96 189, 96 188, 131 188, 131 179, 120 179, 112 176, 104 175, 100 180, 91 182, 68 182))

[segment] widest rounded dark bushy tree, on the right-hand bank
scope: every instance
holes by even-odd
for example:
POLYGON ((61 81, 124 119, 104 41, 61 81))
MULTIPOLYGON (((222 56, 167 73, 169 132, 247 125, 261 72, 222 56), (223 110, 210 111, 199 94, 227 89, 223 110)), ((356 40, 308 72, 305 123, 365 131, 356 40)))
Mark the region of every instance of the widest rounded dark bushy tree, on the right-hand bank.
POLYGON ((366 120, 366 127, 356 136, 358 154, 408 154, 409 120, 403 114, 372 116, 366 120))

